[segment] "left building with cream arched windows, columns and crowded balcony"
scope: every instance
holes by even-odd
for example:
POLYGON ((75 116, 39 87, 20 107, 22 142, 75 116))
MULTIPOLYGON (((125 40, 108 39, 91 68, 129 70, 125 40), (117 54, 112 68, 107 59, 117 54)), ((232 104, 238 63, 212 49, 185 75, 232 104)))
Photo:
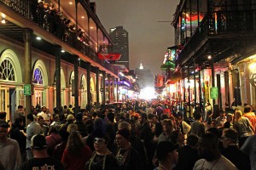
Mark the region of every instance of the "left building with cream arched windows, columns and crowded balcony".
POLYGON ((0 110, 14 116, 18 105, 61 111, 117 100, 118 70, 97 57, 112 44, 89 1, 0 1, 0 110), (101 90, 100 90, 101 89, 101 90), (106 90, 108 89, 108 93, 106 90))

